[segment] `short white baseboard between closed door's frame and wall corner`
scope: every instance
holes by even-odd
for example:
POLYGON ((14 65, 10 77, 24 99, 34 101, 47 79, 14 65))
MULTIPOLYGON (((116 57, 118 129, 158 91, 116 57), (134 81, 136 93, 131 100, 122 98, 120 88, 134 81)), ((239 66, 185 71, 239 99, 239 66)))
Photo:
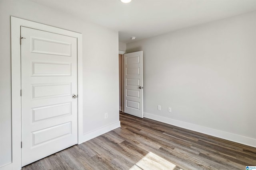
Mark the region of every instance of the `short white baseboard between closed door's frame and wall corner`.
POLYGON ((107 133, 109 131, 112 131, 116 128, 120 127, 120 121, 117 121, 115 123, 112 123, 110 125, 106 125, 104 127, 101 127, 100 129, 97 129, 95 131, 91 131, 91 132, 88 132, 88 133, 85 133, 83 135, 83 142, 86 142, 86 141, 89 141, 90 139, 93 139, 95 137, 98 137, 104 133, 107 133))

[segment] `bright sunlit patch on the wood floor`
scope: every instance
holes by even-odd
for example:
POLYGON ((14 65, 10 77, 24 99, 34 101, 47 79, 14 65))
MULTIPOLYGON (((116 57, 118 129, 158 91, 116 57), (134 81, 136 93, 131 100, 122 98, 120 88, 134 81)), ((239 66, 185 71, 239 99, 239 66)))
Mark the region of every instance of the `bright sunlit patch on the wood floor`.
POLYGON ((130 170, 173 170, 175 167, 176 165, 168 160, 152 152, 148 152, 130 170))

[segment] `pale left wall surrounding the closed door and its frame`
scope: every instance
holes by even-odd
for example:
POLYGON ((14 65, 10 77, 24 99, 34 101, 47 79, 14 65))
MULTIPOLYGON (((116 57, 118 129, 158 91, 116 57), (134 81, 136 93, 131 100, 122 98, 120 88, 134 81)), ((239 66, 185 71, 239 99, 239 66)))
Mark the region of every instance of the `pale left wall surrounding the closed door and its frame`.
POLYGON ((118 32, 28 0, 0 0, 0 167, 12 162, 10 16, 82 33, 84 139, 119 123, 118 32))

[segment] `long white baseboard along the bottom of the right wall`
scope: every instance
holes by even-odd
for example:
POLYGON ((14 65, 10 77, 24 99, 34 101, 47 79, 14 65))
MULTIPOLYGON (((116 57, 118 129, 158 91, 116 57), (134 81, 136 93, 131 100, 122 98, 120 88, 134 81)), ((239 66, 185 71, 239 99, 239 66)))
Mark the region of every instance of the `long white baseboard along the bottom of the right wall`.
POLYGON ((256 139, 144 112, 144 117, 256 148, 256 139))

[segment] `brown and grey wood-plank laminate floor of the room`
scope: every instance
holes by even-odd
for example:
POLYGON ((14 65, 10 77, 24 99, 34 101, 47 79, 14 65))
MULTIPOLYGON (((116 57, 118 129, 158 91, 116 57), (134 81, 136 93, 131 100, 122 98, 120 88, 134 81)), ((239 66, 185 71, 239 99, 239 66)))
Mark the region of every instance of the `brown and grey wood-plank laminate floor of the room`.
POLYGON ((245 170, 256 148, 120 112, 120 128, 22 170, 245 170))

